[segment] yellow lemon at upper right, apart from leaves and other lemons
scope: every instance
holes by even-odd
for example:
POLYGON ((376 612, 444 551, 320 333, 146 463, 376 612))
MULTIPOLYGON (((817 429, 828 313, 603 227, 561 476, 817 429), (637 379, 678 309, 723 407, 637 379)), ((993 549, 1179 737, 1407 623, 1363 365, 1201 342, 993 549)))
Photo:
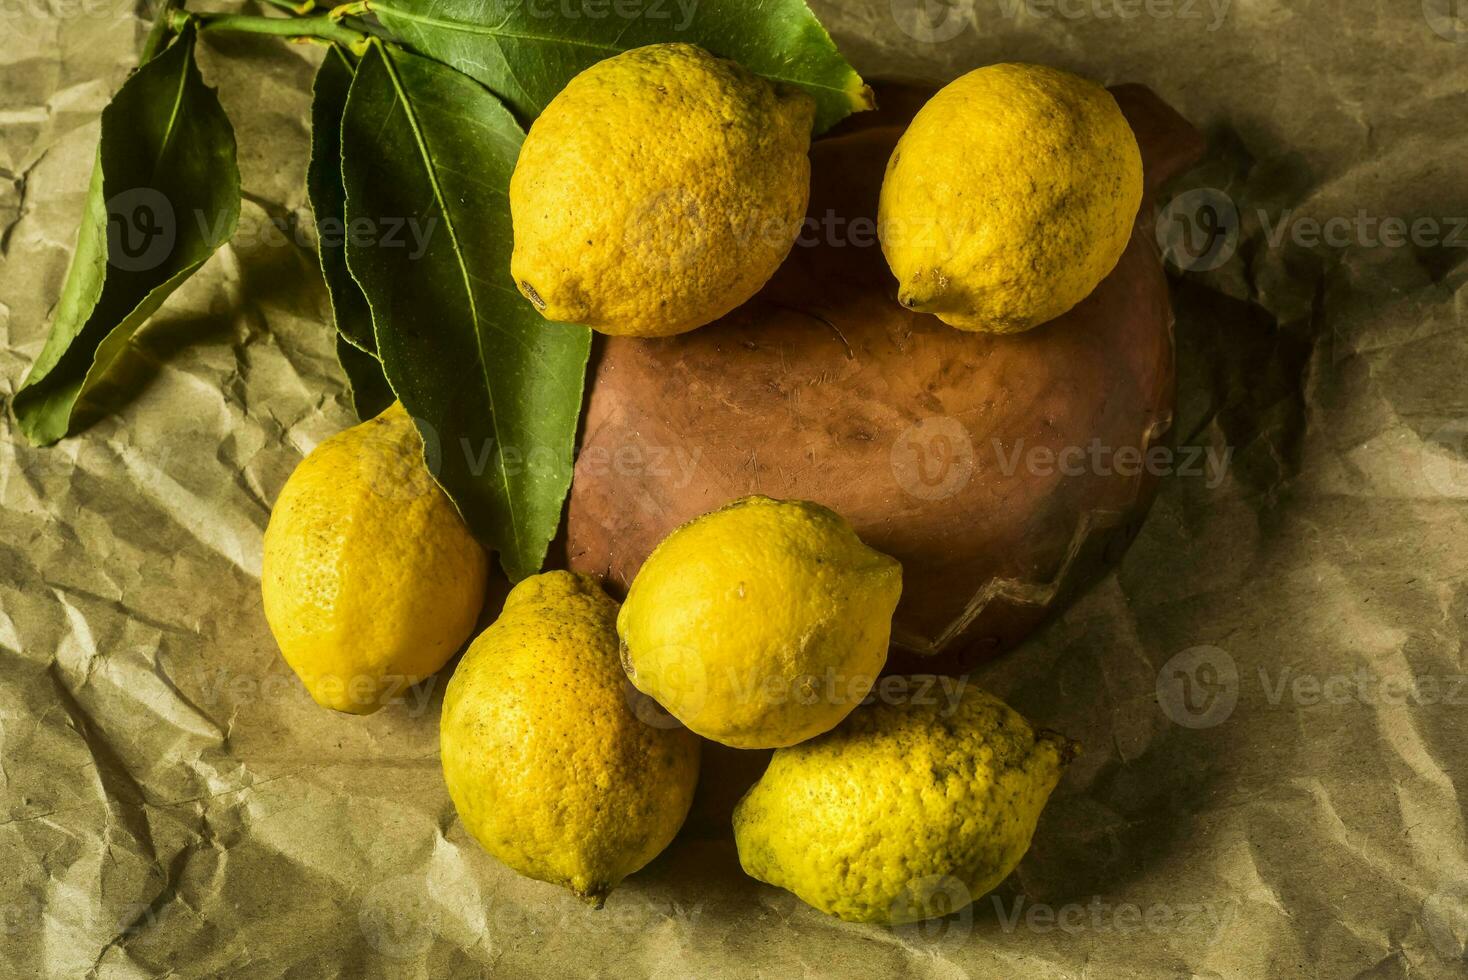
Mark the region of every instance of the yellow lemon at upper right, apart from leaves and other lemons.
POLYGON ((1085 299, 1126 249, 1142 154, 1101 85, 991 65, 945 85, 887 164, 878 233, 898 302, 1014 333, 1085 299))

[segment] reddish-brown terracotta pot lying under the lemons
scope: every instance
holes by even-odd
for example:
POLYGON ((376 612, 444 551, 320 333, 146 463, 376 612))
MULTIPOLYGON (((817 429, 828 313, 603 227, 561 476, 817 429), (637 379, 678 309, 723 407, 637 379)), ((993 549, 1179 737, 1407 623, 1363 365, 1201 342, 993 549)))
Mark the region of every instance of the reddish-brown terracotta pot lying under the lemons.
POLYGON ((806 232, 755 299, 678 337, 600 339, 570 566, 625 590, 668 531, 728 500, 818 500, 903 563, 890 669, 962 670, 1114 565, 1173 418, 1152 194, 1201 141, 1151 91, 1113 91, 1147 170, 1132 242, 1091 296, 1017 336, 897 304, 876 200, 926 91, 879 88, 881 111, 818 141, 806 232))

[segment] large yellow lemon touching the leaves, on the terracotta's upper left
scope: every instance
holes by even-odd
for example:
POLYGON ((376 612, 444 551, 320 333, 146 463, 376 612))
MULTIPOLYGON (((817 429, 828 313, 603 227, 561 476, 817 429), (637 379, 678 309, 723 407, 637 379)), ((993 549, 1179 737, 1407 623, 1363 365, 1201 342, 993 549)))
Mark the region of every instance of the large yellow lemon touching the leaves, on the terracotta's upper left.
POLYGON ((511 274, 548 318, 669 336, 775 273, 810 194, 815 100, 691 44, 577 75, 509 180, 511 274))

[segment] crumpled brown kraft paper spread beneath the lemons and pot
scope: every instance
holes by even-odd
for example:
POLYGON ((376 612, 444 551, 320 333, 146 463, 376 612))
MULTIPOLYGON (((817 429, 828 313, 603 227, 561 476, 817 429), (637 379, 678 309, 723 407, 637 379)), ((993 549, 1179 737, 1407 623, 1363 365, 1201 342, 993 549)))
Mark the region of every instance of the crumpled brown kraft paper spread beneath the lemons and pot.
MULTIPOLYGON (((465 836, 437 687, 368 719, 308 701, 258 571, 270 500, 352 421, 304 230, 319 54, 211 37, 241 233, 139 337, 116 415, 48 450, 0 421, 0 973, 1465 973, 1465 25, 1446 0, 919 3, 815 6, 871 76, 1154 87, 1210 139, 1177 192, 1239 219, 1174 277, 1176 436, 1224 477, 1179 455, 1120 572, 978 675, 1086 745, 1019 871, 935 927, 826 918, 741 874, 727 814, 763 757, 711 750, 681 836, 593 913, 465 836)), ((4 396, 139 25, 0 0, 4 396)))

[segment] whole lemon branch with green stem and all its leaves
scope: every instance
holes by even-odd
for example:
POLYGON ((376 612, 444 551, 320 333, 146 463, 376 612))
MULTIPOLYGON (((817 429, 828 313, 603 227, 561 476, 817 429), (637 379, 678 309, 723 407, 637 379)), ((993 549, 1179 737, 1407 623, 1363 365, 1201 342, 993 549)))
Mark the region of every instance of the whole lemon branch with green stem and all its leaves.
POLYGON ((708 0, 681 23, 606 18, 603 0, 549 18, 482 0, 264 1, 276 13, 163 0, 103 111, 51 332, 12 401, 18 424, 43 445, 81 428, 137 332, 233 235, 235 135, 195 65, 198 38, 321 44, 307 191, 354 403, 366 417, 401 401, 468 525, 511 578, 533 574, 571 483, 590 333, 545 323, 509 280, 521 126, 581 69, 659 41, 803 87, 818 131, 871 94, 804 0, 708 0))

